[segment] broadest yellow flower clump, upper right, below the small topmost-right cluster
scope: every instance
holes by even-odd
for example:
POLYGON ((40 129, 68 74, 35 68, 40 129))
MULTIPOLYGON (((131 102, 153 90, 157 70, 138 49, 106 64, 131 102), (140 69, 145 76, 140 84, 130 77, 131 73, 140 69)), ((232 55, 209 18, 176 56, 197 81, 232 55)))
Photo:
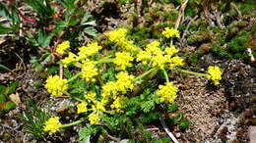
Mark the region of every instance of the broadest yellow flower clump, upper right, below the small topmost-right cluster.
POLYGON ((164 52, 159 47, 159 41, 148 44, 145 51, 140 51, 137 55, 137 61, 141 61, 144 65, 152 61, 153 66, 160 69, 164 69, 167 63, 169 63, 169 68, 184 65, 183 59, 178 56, 172 57, 178 52, 174 46, 165 48, 164 52))

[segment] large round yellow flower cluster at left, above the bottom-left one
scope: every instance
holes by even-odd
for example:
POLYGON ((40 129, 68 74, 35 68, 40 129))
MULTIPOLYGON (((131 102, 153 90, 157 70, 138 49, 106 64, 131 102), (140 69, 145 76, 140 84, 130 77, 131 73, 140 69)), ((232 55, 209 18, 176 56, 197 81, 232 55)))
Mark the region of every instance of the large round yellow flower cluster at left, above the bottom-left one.
POLYGON ((68 80, 61 79, 58 75, 48 76, 44 87, 53 96, 61 96, 68 89, 68 80))

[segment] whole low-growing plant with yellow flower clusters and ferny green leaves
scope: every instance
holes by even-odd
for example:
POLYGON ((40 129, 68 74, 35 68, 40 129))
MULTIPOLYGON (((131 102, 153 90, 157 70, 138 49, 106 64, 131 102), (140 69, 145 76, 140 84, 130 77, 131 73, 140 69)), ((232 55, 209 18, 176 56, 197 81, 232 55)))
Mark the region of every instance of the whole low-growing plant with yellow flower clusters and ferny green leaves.
MULTIPOLYGON (((97 136, 98 141, 132 138, 148 142, 153 137, 145 125, 161 115, 169 119, 167 111, 177 109, 174 101, 178 88, 169 80, 169 71, 204 76, 220 84, 222 71, 217 66, 209 67, 208 73, 181 69, 185 63, 173 45, 179 31, 165 27, 161 33, 165 40, 160 41, 170 42, 155 40, 139 47, 132 37, 127 38, 127 29, 118 28, 106 34, 109 44, 103 47, 92 42, 79 47, 75 54, 69 41, 57 45, 55 52, 64 57, 59 64, 65 77, 50 75, 44 87, 52 96, 73 99, 81 119, 61 123, 60 117, 51 117, 43 130, 52 135, 58 129, 85 122, 87 125, 79 131, 80 141, 97 136)), ((181 129, 189 125, 182 113, 170 120, 181 129)))

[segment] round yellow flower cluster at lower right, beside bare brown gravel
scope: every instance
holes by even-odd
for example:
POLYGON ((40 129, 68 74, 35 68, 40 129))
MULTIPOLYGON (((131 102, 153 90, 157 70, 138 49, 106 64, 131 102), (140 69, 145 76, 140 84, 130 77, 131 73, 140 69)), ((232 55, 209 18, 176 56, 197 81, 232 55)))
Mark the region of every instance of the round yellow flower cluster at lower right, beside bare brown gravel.
POLYGON ((173 103, 177 98, 178 88, 173 85, 173 82, 166 82, 166 85, 160 85, 160 89, 157 91, 157 95, 160 98, 160 102, 173 103))

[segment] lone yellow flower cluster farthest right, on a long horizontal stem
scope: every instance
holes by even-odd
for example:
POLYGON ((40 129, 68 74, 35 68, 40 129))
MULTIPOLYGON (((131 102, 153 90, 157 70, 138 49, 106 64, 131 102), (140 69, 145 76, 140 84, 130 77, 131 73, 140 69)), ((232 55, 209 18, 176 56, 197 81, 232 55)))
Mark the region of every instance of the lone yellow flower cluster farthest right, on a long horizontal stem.
POLYGON ((210 66, 208 68, 208 73, 209 75, 207 76, 207 78, 209 80, 213 80, 215 85, 219 85, 220 84, 220 80, 222 79, 222 74, 223 72, 220 70, 220 68, 218 66, 210 66))

